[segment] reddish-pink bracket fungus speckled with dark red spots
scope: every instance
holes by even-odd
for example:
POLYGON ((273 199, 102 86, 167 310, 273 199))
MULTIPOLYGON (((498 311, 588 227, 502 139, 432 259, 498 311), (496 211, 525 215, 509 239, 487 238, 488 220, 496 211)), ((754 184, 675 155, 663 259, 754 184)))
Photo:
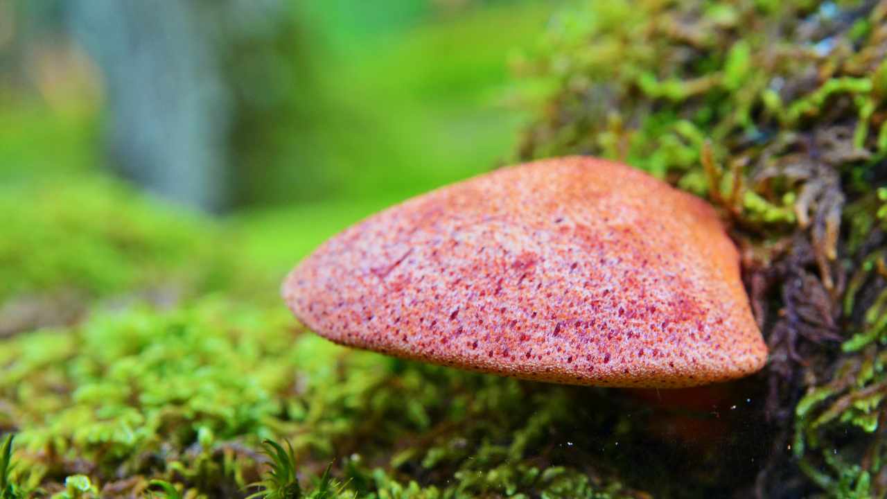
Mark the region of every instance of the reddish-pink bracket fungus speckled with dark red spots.
POLYGON ((708 384, 767 354, 715 211, 590 157, 384 210, 325 242, 282 290, 336 343, 553 383, 708 384))

